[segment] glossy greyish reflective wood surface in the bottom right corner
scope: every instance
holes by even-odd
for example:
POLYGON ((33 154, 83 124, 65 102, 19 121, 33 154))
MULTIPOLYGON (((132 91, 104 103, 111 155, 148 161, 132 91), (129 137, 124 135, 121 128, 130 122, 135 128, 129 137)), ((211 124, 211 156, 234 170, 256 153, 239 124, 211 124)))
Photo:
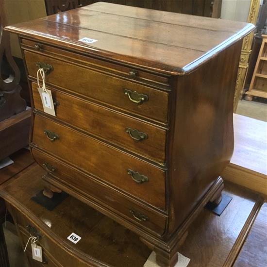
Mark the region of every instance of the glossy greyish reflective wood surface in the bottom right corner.
POLYGON ((257 215, 250 233, 234 262, 234 267, 267 265, 267 203, 265 202, 257 215))

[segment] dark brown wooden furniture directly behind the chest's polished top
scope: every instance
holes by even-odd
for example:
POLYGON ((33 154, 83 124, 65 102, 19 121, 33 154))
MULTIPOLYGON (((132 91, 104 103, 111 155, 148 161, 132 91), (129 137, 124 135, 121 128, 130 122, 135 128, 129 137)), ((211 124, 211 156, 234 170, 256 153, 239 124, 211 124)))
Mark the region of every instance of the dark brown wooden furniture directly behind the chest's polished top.
MULTIPOLYGON (((100 0, 45 0, 47 15, 89 5, 100 0)), ((101 0, 102 1, 102 0, 101 0)), ((103 0, 114 4, 219 18, 221 0, 103 0)))

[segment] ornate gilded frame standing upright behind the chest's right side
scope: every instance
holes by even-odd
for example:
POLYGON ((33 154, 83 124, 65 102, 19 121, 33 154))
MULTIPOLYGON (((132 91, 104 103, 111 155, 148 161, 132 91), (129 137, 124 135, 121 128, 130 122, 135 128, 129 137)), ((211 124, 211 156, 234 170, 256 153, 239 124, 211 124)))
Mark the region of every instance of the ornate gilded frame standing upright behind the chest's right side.
MULTIPOLYGON (((260 2, 259 0, 250 0, 250 10, 249 10, 249 16, 247 22, 256 24, 257 17, 259 14, 260 9, 260 2)), ((254 33, 248 34, 242 44, 242 50, 241 50, 241 56, 240 56, 240 62, 237 72, 237 79, 235 84, 235 90, 234 90, 234 113, 236 112, 239 97, 241 92, 243 91, 248 66, 249 66, 249 58, 251 53, 251 45, 253 40, 254 33)))

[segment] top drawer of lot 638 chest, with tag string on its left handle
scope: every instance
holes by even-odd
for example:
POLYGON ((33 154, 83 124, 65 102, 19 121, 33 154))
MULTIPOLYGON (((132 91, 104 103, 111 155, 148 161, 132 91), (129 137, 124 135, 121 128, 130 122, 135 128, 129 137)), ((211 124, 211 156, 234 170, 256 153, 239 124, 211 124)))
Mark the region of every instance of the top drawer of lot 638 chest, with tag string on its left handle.
POLYGON ((46 83, 141 117, 167 123, 166 92, 38 53, 24 51, 24 55, 28 74, 32 77, 36 78, 36 62, 49 64, 53 70, 47 75, 46 83))

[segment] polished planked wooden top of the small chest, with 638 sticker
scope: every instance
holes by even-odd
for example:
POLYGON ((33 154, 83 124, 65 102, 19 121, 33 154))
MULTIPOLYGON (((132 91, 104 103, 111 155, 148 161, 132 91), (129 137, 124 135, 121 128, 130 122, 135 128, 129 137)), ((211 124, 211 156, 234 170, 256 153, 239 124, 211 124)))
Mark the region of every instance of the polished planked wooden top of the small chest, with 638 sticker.
POLYGON ((98 2, 5 29, 104 59, 184 75, 243 38, 254 26, 98 2), (80 41, 84 37, 97 41, 80 41))

